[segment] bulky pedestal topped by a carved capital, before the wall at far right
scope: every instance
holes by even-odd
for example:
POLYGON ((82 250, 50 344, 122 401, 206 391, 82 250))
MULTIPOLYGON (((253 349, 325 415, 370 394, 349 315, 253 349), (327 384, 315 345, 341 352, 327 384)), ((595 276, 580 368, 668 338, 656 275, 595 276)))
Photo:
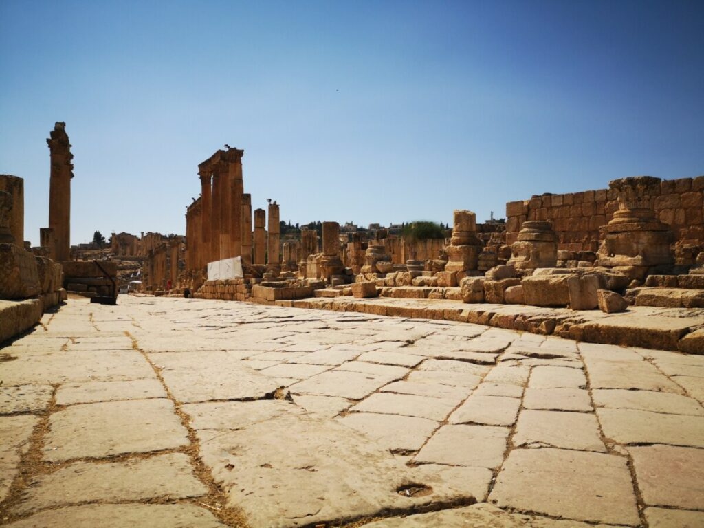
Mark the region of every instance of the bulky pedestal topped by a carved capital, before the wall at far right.
POLYGON ((615 189, 619 209, 599 231, 603 241, 598 265, 620 268, 631 278, 642 280, 655 266, 670 266, 674 257, 670 226, 655 217, 653 196, 660 191, 660 178, 637 176, 609 182, 615 189))

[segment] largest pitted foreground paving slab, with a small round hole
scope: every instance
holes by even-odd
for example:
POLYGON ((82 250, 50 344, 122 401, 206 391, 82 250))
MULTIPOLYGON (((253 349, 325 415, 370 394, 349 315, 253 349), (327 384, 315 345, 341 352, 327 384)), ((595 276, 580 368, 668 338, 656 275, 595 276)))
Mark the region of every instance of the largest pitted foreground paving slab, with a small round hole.
MULTIPOLYGON (((294 405, 270 420, 197 434, 203 463, 251 528, 311 526, 435 502, 433 493, 398 493, 426 484, 375 441, 294 405)), ((452 501, 474 498, 467 492, 452 501)))

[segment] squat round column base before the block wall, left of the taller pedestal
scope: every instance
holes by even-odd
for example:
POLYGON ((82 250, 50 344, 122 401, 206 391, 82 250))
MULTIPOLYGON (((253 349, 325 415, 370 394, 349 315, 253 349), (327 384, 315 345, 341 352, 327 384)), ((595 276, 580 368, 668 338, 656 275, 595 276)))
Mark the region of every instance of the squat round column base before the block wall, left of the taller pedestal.
POLYGON ((507 264, 513 264, 517 270, 555 268, 558 265, 558 237, 552 222, 523 222, 517 241, 511 244, 511 258, 507 264))

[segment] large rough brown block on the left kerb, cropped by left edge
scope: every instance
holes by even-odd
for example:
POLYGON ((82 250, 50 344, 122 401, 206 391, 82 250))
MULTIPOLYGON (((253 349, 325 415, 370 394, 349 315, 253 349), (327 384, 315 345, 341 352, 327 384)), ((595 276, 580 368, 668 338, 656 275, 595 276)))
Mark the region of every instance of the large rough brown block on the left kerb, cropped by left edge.
POLYGON ((15 244, 0 244, 0 299, 27 298, 41 292, 34 255, 15 244))

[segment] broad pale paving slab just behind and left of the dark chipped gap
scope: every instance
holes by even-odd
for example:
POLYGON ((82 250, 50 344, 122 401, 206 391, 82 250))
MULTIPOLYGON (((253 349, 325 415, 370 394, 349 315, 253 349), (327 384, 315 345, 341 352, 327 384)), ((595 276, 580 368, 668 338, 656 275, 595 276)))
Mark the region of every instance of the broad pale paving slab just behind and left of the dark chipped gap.
POLYGON ((149 358, 162 369, 166 386, 180 402, 265 398, 281 386, 276 378, 241 365, 227 351, 165 352, 149 358))

